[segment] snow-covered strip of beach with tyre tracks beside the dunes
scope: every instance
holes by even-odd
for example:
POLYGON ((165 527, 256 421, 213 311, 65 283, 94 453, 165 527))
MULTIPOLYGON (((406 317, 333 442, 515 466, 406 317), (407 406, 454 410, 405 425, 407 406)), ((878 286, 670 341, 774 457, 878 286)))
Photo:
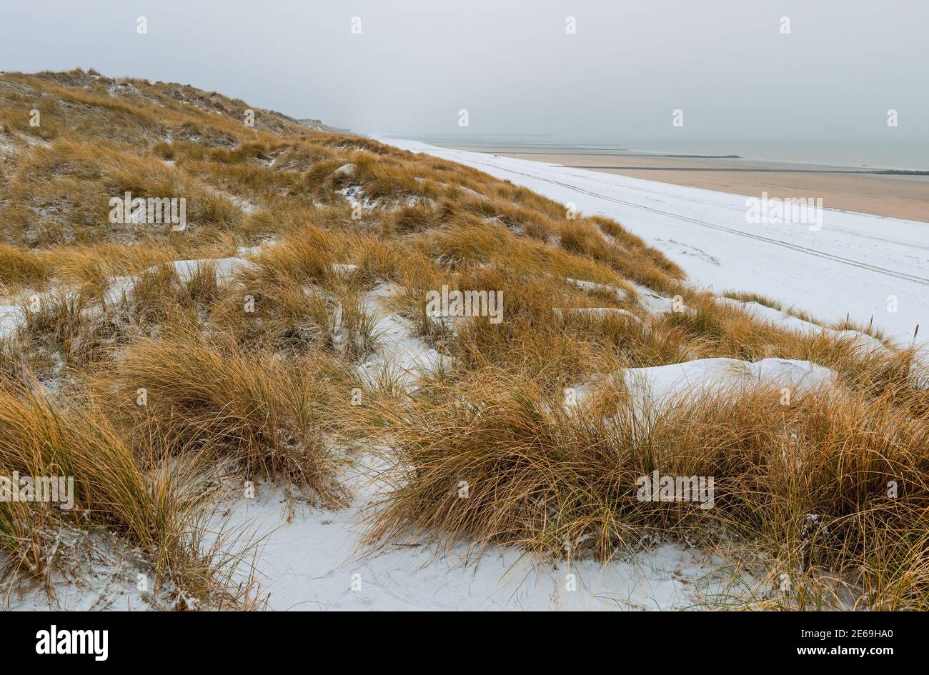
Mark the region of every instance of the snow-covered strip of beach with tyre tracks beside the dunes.
POLYGON ((876 327, 904 344, 922 324, 918 342, 929 340, 929 224, 826 208, 822 228, 814 231, 805 225, 757 225, 746 222, 742 195, 378 140, 572 202, 582 214, 615 218, 714 292, 759 292, 827 320, 849 313, 867 324, 873 316, 876 327))

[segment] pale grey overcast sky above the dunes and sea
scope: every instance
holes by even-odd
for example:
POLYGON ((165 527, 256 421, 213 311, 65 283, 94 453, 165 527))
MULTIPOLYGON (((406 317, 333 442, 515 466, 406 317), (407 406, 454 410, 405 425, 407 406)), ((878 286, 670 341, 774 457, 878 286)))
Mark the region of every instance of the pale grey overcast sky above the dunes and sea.
POLYGON ((365 133, 454 135, 466 109, 477 136, 880 140, 896 109, 895 138, 924 141, 927 25, 926 0, 4 0, 0 69, 189 83, 365 133))

